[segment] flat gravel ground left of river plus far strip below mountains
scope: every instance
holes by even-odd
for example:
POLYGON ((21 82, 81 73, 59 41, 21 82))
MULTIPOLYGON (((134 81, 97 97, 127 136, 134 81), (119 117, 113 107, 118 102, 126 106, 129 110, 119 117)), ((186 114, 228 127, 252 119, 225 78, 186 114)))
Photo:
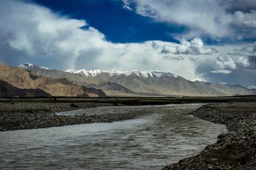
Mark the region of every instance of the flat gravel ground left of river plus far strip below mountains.
POLYGON ((61 125, 113 122, 140 117, 145 111, 124 114, 76 115, 68 117, 56 112, 98 106, 138 106, 182 103, 256 102, 256 96, 240 97, 106 97, 106 98, 0 98, 0 131, 34 129, 61 125))

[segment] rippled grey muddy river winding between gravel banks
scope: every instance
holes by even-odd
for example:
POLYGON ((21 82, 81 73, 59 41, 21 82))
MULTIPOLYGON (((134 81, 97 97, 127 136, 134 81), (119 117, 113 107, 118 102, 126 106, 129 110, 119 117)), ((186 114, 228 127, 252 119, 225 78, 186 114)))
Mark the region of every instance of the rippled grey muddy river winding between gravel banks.
POLYGON ((188 115, 201 104, 119 106, 60 115, 148 111, 144 117, 0 132, 0 169, 161 169, 215 143, 225 125, 188 115))

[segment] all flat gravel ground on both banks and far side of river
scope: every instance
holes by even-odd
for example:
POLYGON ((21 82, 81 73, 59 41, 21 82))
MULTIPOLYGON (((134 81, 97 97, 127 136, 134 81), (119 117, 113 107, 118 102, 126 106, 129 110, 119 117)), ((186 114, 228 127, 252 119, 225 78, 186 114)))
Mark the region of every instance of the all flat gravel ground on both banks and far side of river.
POLYGON ((218 136, 195 157, 180 160, 163 169, 255 169, 256 168, 256 101, 248 97, 183 98, 106 98, 106 99, 1 99, 0 131, 44 128, 92 122, 113 122, 148 114, 146 111, 125 114, 56 115, 97 106, 147 105, 172 103, 215 103, 191 113, 195 117, 227 125, 228 133, 218 136))

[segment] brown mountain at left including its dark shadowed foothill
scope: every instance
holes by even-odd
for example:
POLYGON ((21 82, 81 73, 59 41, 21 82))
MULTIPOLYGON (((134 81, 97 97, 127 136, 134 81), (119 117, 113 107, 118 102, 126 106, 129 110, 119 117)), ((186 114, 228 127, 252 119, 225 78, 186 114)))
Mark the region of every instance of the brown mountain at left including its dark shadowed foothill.
POLYGON ((9 67, 1 63, 0 80, 0 94, 6 97, 106 97, 102 90, 76 85, 67 78, 46 77, 22 67, 9 67))

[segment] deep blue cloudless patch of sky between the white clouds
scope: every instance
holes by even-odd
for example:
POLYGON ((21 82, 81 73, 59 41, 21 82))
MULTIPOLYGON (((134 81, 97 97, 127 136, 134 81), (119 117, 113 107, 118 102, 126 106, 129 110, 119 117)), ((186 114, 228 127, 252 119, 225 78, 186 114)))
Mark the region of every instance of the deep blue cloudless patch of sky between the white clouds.
POLYGON ((35 3, 51 8, 61 15, 84 19, 88 24, 102 32, 113 43, 138 43, 159 39, 177 41, 170 32, 184 31, 182 25, 157 22, 133 11, 124 10, 122 1, 51 1, 35 0, 35 3))

